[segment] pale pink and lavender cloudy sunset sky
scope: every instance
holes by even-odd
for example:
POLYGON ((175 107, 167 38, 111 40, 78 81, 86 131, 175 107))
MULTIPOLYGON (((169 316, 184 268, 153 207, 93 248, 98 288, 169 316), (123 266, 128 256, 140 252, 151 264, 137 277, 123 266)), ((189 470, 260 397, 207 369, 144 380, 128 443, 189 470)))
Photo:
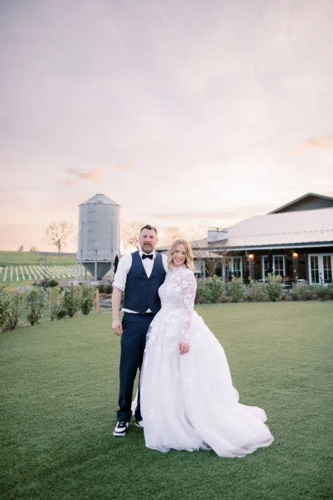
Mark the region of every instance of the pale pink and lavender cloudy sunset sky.
MULTIPOLYGON (((78 226, 226 227, 333 196, 332 0, 0 2, 0 249, 78 226)), ((71 244, 68 250, 75 250, 71 244)))

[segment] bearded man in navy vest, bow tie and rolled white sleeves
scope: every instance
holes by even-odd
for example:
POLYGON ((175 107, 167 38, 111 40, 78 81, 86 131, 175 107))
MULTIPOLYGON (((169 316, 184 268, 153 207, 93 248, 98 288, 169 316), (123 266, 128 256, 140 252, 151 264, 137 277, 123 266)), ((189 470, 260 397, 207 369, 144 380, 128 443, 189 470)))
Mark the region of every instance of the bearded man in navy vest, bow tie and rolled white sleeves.
MULTIPOLYGON (((119 410, 113 435, 125 436, 132 416, 133 385, 137 369, 141 371, 146 333, 153 317, 161 308, 158 289, 167 272, 167 256, 155 251, 157 229, 150 224, 139 235, 140 250, 119 260, 112 292, 112 329, 121 335, 119 367, 119 410), (119 319, 121 292, 125 292, 123 320, 119 319)), ((135 408, 135 425, 143 427, 140 391, 135 408)))

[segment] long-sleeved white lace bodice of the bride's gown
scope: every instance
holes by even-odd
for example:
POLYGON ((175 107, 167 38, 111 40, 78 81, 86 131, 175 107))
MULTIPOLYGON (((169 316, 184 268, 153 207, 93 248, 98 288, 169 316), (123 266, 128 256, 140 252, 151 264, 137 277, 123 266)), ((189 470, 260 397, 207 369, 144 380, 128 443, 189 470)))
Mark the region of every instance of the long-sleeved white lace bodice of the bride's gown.
POLYGON ((196 278, 186 265, 172 267, 158 289, 162 308, 184 309, 185 321, 181 340, 189 343, 191 316, 196 297, 196 278))

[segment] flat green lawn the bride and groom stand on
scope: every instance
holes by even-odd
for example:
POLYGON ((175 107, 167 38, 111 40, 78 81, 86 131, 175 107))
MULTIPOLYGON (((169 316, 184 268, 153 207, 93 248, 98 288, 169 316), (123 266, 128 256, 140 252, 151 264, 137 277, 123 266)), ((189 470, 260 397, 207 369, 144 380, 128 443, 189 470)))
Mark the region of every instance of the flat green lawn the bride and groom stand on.
POLYGON ((1 335, 1 498, 332 499, 332 301, 196 310, 241 402, 266 410, 271 447, 238 459, 162 454, 133 422, 113 437, 119 338, 105 311, 1 335))

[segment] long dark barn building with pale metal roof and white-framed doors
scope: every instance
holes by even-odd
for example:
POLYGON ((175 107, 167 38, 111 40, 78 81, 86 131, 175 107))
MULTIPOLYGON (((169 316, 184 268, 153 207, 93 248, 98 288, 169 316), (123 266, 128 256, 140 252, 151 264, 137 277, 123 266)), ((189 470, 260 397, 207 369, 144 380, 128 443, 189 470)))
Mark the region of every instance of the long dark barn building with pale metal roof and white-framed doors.
POLYGON ((333 198, 307 193, 267 215, 228 229, 212 228, 191 247, 200 276, 217 274, 224 281, 237 276, 247 282, 265 281, 273 272, 286 284, 332 283, 333 198))

